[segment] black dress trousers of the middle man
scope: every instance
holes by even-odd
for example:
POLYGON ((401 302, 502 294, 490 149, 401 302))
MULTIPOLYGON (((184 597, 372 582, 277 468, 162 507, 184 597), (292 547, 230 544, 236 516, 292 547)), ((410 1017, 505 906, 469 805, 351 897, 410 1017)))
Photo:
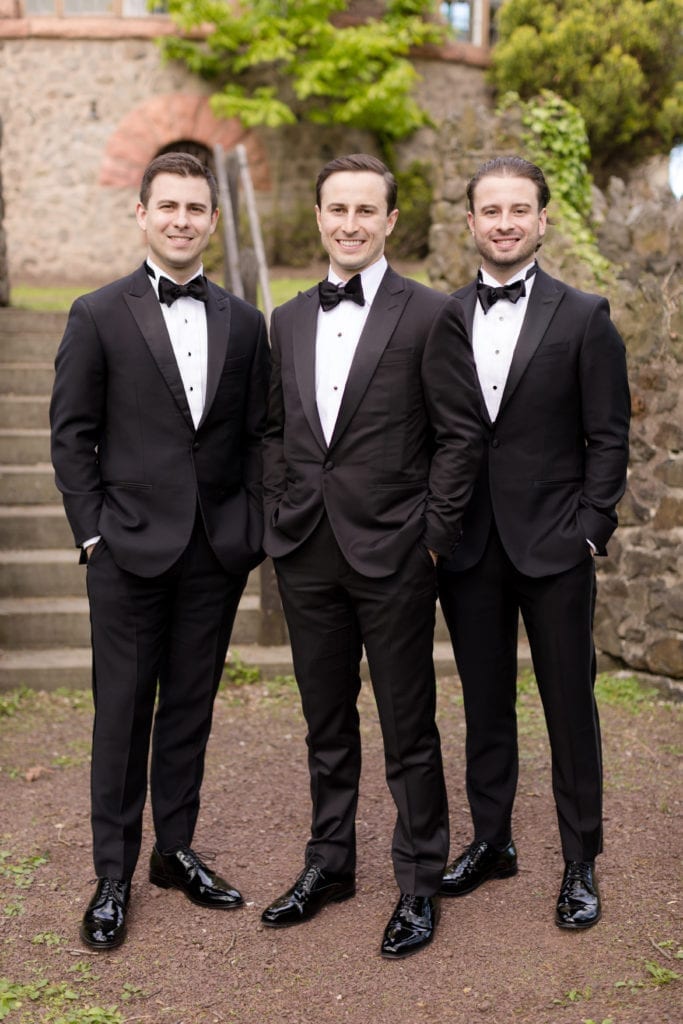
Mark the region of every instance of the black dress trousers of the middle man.
POLYGON ((401 892, 439 887, 449 852, 440 742, 434 721, 436 573, 419 545, 399 571, 373 579, 344 558, 324 518, 275 569, 308 726, 312 798, 306 862, 355 868, 360 775, 356 700, 365 645, 396 805, 392 859, 401 892))

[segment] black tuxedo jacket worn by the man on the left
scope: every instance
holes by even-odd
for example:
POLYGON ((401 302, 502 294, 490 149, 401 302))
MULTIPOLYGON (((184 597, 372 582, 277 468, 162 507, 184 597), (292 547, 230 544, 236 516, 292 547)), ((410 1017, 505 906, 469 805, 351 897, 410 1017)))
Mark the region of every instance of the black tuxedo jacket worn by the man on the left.
POLYGON ((209 283, 207 394, 193 423, 144 267, 74 303, 55 361, 52 462, 76 544, 101 535, 121 568, 158 575, 199 508, 229 571, 262 559, 262 314, 209 283))

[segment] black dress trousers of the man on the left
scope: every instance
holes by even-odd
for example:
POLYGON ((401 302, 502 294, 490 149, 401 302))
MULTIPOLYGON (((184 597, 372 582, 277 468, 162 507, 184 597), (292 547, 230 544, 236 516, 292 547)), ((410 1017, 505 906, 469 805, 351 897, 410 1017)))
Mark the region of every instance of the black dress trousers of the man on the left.
POLYGON ((157 846, 191 842, 214 697, 247 577, 222 568, 198 515, 184 553, 161 575, 124 571, 99 541, 87 578, 93 857, 98 877, 130 879, 140 850, 151 736, 157 846))

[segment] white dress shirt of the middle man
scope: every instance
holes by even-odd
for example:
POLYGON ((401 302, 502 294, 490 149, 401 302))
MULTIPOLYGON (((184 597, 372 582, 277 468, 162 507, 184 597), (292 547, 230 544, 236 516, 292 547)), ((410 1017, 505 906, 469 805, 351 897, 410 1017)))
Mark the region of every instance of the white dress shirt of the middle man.
MULTIPOLYGON (((359 306, 349 299, 344 299, 333 309, 325 312, 321 308, 317 312, 315 401, 328 444, 335 429, 360 334, 386 268, 387 261, 382 256, 360 273, 365 305, 359 306)), ((338 278, 333 270, 330 270, 328 279, 335 285, 342 283, 341 278, 338 278)))

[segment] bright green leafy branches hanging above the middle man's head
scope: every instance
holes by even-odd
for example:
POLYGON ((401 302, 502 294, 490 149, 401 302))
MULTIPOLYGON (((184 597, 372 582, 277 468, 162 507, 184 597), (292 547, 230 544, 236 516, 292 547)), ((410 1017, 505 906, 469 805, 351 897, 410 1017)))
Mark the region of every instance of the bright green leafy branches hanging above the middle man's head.
POLYGON ((214 113, 248 127, 309 121, 371 131, 389 143, 429 118, 412 96, 414 46, 443 29, 424 19, 429 0, 388 0, 382 18, 335 22, 345 0, 169 0, 183 35, 161 41, 165 55, 215 81, 214 113), (188 38, 206 25, 205 39, 188 38), (275 82, 275 84, 273 84, 275 82))

